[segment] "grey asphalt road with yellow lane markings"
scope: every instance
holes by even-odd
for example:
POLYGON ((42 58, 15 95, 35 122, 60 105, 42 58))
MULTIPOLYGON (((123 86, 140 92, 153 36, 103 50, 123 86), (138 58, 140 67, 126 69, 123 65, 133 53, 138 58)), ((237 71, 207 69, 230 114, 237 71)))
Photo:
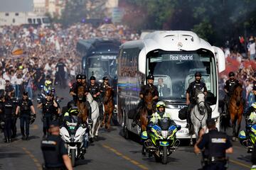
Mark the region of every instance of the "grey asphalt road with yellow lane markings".
MULTIPOLYGON (((65 105, 70 97, 68 89, 56 89, 57 94, 65 98, 61 105, 65 105)), ((36 100, 35 100, 36 101, 36 100)), ((0 137, 0 169, 41 169, 43 163, 40 148, 42 132, 41 112, 37 110, 36 122, 31 125, 30 140, 21 140, 19 119, 17 121, 18 137, 9 144, 2 142, 0 137)), ((244 129, 244 125, 242 125, 244 129)), ((144 157, 141 154, 142 145, 136 136, 131 140, 122 137, 121 127, 112 127, 110 132, 101 128, 98 140, 91 143, 87 149, 84 160, 79 160, 75 169, 199 169, 201 155, 193 153, 193 147, 187 146, 183 141, 181 147, 171 154, 168 164, 156 163, 154 157, 144 157)), ((250 154, 240 147, 239 142, 233 142, 234 153, 230 157, 229 169, 250 169, 250 154)))

